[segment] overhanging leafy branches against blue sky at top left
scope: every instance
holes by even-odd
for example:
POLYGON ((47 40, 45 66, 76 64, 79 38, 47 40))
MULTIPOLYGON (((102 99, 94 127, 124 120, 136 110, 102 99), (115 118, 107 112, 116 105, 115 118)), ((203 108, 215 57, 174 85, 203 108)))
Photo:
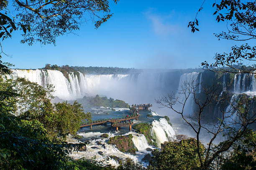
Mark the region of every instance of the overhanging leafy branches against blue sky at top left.
MULTIPOLYGON (((9 12, 7 0, 0 5, 6 13, 9 12)), ((23 25, 24 39, 21 42, 28 42, 28 45, 34 42, 55 44, 56 37, 79 30, 79 24, 89 18, 97 29, 113 15, 109 0, 15 0, 12 5, 16 10, 15 19, 23 25)))

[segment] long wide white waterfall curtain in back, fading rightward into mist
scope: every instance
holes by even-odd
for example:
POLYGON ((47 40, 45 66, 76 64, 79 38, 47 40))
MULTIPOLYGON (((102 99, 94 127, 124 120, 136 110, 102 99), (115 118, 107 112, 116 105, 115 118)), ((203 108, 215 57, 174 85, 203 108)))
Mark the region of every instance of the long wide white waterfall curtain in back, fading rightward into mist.
POLYGON ((155 103, 155 97, 176 92, 180 78, 179 72, 142 72, 131 75, 90 75, 68 72, 64 76, 58 70, 14 69, 12 71, 8 78, 26 77, 43 87, 52 84, 55 87, 53 95, 62 100, 75 100, 84 95, 98 94, 128 103, 155 103))

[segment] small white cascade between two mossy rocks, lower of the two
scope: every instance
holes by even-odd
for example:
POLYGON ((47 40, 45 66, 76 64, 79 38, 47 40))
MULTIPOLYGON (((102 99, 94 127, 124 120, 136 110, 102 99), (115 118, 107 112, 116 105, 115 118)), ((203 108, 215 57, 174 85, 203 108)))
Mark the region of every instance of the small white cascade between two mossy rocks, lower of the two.
POLYGON ((148 145, 147 139, 142 134, 132 134, 133 144, 138 149, 139 152, 146 151, 146 148, 152 148, 148 145))

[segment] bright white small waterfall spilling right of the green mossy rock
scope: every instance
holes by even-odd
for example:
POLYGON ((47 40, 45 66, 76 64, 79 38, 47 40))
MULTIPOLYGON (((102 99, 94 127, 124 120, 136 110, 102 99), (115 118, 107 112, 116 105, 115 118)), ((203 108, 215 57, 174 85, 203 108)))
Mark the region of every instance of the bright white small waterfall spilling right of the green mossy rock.
POLYGON ((156 143, 161 147, 161 143, 172 140, 175 137, 175 132, 165 118, 160 118, 159 121, 152 122, 152 134, 156 135, 156 143))

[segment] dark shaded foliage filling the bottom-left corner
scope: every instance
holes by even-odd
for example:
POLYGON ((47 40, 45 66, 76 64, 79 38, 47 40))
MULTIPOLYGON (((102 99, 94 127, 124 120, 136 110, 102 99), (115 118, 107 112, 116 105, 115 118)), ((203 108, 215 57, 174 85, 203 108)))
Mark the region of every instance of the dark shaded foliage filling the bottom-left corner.
POLYGON ((60 169, 67 162, 69 153, 84 146, 83 143, 53 143, 46 133, 43 124, 38 120, 21 120, 7 110, 1 110, 0 168, 60 169))

